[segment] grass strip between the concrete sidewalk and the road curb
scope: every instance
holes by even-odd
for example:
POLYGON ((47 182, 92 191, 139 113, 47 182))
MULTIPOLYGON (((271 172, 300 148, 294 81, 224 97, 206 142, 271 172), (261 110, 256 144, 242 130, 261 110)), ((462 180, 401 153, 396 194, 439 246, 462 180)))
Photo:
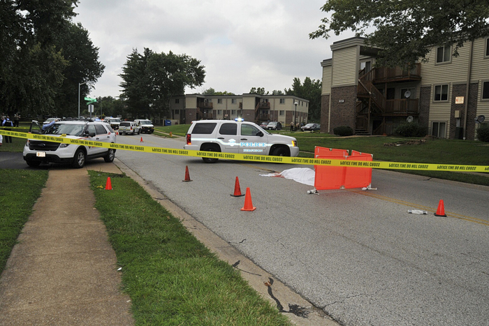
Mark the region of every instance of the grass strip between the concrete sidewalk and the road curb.
POLYGON ((137 325, 290 325, 136 181, 89 173, 137 325))

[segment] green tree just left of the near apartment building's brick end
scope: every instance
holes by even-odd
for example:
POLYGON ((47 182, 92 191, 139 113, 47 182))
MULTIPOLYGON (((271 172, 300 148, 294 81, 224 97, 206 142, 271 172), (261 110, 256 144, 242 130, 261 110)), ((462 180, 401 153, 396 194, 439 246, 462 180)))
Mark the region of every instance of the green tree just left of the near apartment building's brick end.
POLYGON ((309 100, 308 120, 319 122, 321 121, 321 80, 311 80, 305 77, 304 83, 300 83, 300 79, 295 77, 292 83, 292 89, 284 89, 286 95, 297 96, 309 100))

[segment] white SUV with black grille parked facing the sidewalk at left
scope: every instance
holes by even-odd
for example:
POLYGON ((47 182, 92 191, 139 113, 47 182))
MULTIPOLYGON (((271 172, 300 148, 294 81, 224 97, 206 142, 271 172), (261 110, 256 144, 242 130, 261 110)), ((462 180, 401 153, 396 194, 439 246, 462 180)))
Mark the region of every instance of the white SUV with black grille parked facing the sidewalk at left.
MULTIPOLYGON (((32 121, 30 133, 38 133, 66 138, 92 140, 94 142, 116 142, 115 132, 108 124, 96 121, 57 121, 52 126, 41 127, 38 121, 32 121)), ((92 158, 103 157, 104 161, 114 161, 115 149, 85 145, 49 142, 47 140, 27 140, 23 151, 24 161, 31 167, 41 163, 66 163, 74 168, 83 168, 92 158)))

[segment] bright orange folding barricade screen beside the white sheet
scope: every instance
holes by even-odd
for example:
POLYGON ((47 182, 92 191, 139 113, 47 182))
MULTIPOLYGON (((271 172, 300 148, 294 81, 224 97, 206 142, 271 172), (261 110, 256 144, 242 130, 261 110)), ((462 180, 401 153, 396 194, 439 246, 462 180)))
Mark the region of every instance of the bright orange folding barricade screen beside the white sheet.
MULTIPOLYGON (((372 161, 372 154, 360 153, 360 151, 348 151, 345 149, 329 149, 316 147, 314 158, 327 158, 346 161, 372 161)), ((372 184, 372 168, 356 168, 352 166, 328 166, 314 165, 316 175, 314 187, 317 190, 340 188, 364 188, 372 184)))

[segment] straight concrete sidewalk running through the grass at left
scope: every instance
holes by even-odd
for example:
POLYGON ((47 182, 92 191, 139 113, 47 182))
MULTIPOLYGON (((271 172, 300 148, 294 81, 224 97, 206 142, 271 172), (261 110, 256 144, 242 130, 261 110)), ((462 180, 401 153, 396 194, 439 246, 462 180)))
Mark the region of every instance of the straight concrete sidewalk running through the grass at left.
POLYGON ((56 166, 0 278, 0 325, 133 325, 87 169, 56 166))

